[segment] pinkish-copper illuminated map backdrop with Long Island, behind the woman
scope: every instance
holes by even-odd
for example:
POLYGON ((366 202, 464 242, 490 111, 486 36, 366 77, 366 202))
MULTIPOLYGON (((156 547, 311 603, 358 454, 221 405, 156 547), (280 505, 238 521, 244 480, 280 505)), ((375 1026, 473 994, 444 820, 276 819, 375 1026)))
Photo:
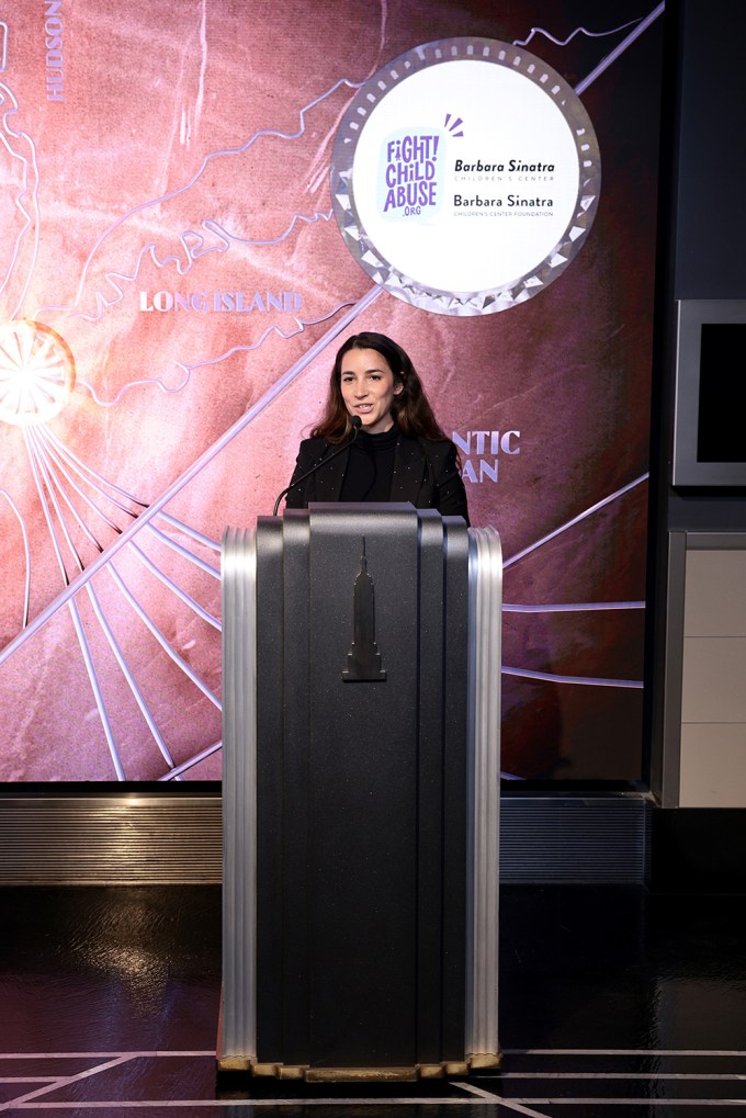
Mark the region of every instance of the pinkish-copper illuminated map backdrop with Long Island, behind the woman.
POLYGON ((219 540, 271 511, 359 330, 405 344, 447 432, 520 430, 468 480, 507 601, 536 607, 506 615, 503 768, 640 777, 661 10, 63 4, 48 100, 10 0, 0 320, 54 331, 75 380, 0 421, 0 781, 219 778, 219 540), (466 22, 583 88, 604 162, 583 253, 491 322, 371 285, 329 186, 356 91, 466 22))

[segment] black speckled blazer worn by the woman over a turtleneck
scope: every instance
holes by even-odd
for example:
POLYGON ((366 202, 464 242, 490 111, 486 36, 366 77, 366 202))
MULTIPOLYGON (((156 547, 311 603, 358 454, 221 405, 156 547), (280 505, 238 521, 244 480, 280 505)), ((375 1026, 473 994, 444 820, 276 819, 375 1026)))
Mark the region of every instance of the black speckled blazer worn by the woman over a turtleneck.
MULTIPOLYGON (((293 482, 334 447, 325 438, 304 438, 295 462, 293 482)), ((293 486, 285 501, 287 509, 306 509, 312 501, 339 501, 349 451, 293 486)), ((409 501, 416 509, 437 509, 444 517, 463 517, 469 523, 466 491, 459 473, 456 448, 450 439, 427 439, 399 435, 394 454, 391 501, 409 501)))

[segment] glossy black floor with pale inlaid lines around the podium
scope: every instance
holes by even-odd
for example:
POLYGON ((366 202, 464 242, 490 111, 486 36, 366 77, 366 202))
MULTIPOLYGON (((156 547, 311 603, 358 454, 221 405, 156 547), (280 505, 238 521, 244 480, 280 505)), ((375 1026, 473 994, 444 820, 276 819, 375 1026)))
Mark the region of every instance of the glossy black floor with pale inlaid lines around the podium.
POLYGON ((221 1080, 218 888, 0 891, 0 1114, 696 1118, 746 1106, 746 898, 502 891, 499 1074, 221 1080))

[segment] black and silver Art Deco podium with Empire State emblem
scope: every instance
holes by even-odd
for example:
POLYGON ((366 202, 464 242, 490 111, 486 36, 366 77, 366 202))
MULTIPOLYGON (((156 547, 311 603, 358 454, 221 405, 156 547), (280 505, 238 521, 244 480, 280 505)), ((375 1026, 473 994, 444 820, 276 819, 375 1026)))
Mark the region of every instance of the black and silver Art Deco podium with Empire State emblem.
POLYGON ((226 530, 218 1072, 499 1064, 501 581, 410 504, 226 530))

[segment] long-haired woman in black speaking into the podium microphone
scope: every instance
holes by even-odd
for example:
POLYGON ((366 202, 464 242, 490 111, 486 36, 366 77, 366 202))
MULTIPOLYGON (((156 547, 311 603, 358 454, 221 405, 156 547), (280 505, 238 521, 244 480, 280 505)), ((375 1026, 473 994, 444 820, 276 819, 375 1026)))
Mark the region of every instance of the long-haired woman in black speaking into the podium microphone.
POLYGON ((337 353, 323 416, 301 443, 285 504, 409 501, 469 523, 459 465, 407 353, 385 334, 353 334, 337 353))

